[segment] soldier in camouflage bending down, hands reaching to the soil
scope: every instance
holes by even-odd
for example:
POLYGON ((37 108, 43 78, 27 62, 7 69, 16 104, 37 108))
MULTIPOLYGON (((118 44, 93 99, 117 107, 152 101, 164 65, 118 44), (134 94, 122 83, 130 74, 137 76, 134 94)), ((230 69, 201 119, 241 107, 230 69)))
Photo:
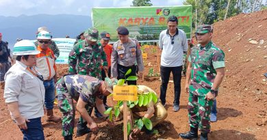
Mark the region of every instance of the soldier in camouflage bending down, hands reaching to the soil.
POLYGON ((73 139, 73 129, 75 124, 75 107, 73 100, 77 101, 77 111, 86 122, 79 122, 77 125, 77 137, 86 133, 97 130, 97 124, 90 117, 89 111, 97 107, 101 115, 104 114, 105 107, 103 96, 112 93, 113 85, 116 79, 106 78, 101 81, 92 76, 71 74, 62 76, 56 83, 56 92, 58 98, 58 108, 62 113, 62 136, 65 140, 73 139), (87 128, 86 124, 90 126, 87 128))

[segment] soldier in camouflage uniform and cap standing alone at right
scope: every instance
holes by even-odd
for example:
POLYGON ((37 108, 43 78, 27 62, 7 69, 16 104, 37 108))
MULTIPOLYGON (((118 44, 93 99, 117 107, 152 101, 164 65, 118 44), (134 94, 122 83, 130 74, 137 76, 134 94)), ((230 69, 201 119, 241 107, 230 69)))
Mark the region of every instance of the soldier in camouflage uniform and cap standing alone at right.
POLYGON ((183 139, 197 139, 198 128, 201 140, 207 139, 210 132, 209 115, 225 75, 225 54, 211 41, 212 34, 211 25, 200 25, 196 29, 199 44, 192 48, 188 57, 186 90, 189 90, 190 131, 180 134, 183 139))

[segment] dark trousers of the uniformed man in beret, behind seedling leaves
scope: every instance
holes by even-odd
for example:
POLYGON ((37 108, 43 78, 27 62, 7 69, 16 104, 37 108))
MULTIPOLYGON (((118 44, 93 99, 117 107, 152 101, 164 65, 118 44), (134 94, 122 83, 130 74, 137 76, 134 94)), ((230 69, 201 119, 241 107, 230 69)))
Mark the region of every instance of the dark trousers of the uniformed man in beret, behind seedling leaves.
MULTIPOLYGON (((121 66, 118 64, 118 80, 119 79, 127 79, 129 76, 136 76, 136 66, 129 66, 129 67, 125 67, 125 66, 121 66), (128 74, 125 77, 125 74, 127 72, 127 70, 131 69, 131 73, 128 74)), ((136 85, 136 81, 126 81, 128 85, 136 85)))

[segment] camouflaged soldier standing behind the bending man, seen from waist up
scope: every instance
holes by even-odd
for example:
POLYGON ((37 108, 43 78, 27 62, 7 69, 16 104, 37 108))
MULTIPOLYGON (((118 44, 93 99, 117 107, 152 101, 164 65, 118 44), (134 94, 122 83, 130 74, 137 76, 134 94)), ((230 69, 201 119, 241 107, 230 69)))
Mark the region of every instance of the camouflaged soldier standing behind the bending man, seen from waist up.
POLYGON ((97 44, 99 31, 91 28, 84 31, 85 40, 73 46, 68 55, 70 74, 89 75, 101 79, 101 66, 107 68, 107 58, 103 48, 97 44))

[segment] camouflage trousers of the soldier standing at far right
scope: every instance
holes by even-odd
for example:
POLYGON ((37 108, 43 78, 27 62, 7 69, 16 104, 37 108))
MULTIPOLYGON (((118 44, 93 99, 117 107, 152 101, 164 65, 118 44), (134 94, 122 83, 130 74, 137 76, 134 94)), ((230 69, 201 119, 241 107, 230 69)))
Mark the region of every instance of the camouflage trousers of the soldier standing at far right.
POLYGON ((209 115, 213 100, 207 101, 205 96, 197 96, 190 92, 188 102, 189 124, 192 128, 199 128, 201 132, 209 132, 209 115))

